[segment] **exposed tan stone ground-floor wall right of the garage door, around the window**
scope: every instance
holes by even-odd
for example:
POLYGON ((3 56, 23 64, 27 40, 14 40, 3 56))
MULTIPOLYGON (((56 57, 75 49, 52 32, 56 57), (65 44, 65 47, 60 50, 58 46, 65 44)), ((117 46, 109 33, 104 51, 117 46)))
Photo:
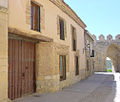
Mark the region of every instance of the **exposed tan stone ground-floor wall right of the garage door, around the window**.
POLYGON ((36 84, 38 93, 62 90, 86 77, 85 69, 75 76, 71 70, 69 46, 54 42, 40 42, 36 46, 36 84), (66 55, 66 80, 60 81, 59 55, 66 55))

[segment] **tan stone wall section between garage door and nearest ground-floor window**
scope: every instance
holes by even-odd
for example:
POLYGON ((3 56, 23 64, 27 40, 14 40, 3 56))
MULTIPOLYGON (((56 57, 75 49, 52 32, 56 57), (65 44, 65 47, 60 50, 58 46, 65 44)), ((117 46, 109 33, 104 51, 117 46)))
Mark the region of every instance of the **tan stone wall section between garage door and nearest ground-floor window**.
POLYGON ((36 84, 38 93, 54 92, 59 89, 58 68, 55 70, 53 43, 40 42, 36 46, 36 84))

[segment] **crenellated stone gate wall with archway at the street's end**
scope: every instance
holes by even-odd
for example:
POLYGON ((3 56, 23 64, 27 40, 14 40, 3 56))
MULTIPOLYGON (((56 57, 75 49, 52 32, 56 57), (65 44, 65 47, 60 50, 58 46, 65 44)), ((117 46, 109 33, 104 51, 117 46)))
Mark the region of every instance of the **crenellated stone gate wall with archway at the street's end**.
POLYGON ((111 34, 106 39, 100 35, 98 40, 95 38, 95 42, 95 71, 107 71, 107 57, 111 59, 114 70, 120 71, 120 35, 115 39, 111 34))

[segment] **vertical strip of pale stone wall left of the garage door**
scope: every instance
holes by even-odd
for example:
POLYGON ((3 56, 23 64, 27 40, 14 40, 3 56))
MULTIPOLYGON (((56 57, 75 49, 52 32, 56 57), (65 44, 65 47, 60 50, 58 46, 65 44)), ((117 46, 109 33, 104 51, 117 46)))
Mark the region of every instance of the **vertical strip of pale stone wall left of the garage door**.
POLYGON ((0 102, 8 101, 7 0, 0 0, 0 102))

